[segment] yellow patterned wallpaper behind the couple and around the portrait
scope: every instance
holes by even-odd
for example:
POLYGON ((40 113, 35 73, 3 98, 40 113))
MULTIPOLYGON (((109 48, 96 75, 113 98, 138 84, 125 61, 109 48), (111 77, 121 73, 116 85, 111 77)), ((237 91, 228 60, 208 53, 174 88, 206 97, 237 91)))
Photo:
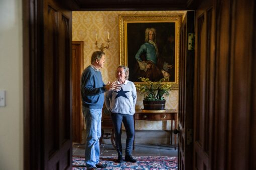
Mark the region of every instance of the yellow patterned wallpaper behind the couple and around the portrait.
MULTIPOLYGON (((106 53, 106 63, 101 70, 103 81, 115 80, 115 71, 120 64, 119 47, 119 14, 185 14, 185 11, 90 11, 73 12, 72 14, 72 40, 84 42, 84 68, 90 64, 92 53, 97 50, 95 46, 98 34, 98 46, 106 44, 109 31, 109 48, 106 53)), ((136 108, 143 108, 143 96, 137 93, 136 108)), ((166 97, 166 109, 178 109, 178 90, 172 90, 166 97)), ((168 130, 170 121, 136 121, 137 130, 168 130)))

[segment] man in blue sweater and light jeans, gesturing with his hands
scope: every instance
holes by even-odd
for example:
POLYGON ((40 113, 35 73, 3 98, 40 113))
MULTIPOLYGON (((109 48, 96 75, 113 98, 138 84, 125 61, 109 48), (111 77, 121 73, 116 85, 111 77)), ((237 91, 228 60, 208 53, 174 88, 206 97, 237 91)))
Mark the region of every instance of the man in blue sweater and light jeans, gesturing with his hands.
POLYGON ((93 52, 91 64, 83 71, 81 77, 82 111, 86 123, 85 162, 87 169, 106 168, 99 161, 99 138, 101 136, 101 112, 104 92, 118 89, 116 82, 105 85, 100 69, 105 63, 105 53, 93 52))

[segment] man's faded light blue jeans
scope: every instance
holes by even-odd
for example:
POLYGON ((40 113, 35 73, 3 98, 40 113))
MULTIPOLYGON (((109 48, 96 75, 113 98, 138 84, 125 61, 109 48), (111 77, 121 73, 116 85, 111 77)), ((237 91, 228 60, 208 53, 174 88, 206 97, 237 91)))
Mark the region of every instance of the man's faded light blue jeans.
POLYGON ((82 110, 86 124, 85 163, 87 168, 93 168, 99 163, 102 109, 83 107, 82 110))

